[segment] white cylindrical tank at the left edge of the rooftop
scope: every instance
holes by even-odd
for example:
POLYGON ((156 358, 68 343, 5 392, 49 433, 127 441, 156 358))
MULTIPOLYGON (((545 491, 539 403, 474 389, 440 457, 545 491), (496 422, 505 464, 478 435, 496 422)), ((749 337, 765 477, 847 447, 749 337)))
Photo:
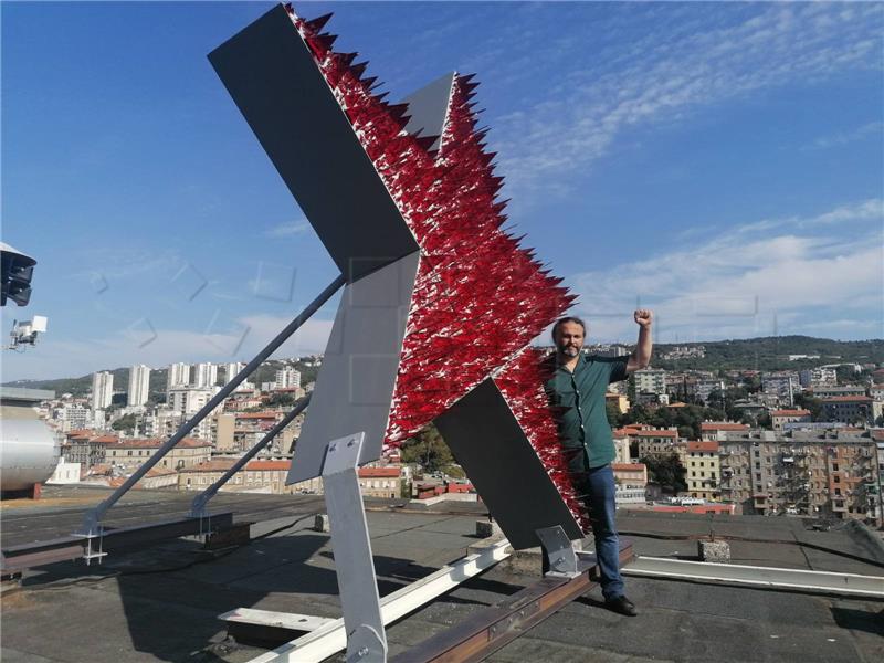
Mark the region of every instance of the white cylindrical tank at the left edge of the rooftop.
POLYGON ((0 491, 30 490, 59 464, 59 444, 39 419, 0 420, 0 491))

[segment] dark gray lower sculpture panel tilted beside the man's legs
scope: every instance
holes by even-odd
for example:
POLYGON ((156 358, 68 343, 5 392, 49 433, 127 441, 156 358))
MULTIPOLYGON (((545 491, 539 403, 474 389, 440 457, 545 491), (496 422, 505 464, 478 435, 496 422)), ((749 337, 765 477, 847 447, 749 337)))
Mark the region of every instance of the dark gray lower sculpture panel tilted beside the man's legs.
POLYGON ((454 403, 435 425, 514 548, 539 546, 536 530, 555 525, 571 539, 583 537, 494 380, 454 403))

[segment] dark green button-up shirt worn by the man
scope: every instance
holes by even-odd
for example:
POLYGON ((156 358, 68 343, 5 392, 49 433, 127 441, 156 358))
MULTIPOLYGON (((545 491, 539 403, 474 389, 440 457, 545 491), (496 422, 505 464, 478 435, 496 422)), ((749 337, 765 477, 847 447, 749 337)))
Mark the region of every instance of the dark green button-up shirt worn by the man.
POLYGON ((549 359, 555 371, 544 388, 556 408, 559 441, 571 472, 607 465, 617 456, 604 407, 608 385, 627 379, 629 357, 580 355, 573 372, 549 359))

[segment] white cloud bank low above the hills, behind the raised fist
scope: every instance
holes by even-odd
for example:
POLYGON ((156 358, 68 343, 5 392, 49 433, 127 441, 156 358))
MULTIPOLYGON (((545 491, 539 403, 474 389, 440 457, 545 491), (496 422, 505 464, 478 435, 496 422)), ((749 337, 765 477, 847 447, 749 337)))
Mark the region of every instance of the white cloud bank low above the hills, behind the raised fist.
POLYGON ((884 212, 880 200, 841 206, 808 218, 728 229, 670 253, 575 274, 575 308, 602 340, 631 340, 631 312, 655 309, 664 338, 727 338, 775 333, 836 334, 854 338, 884 334, 884 212), (874 219, 839 234, 839 223, 874 219), (789 227, 789 228, 786 228, 789 227), (798 234, 820 228, 827 236, 798 234), (856 329, 832 325, 851 319, 856 329))

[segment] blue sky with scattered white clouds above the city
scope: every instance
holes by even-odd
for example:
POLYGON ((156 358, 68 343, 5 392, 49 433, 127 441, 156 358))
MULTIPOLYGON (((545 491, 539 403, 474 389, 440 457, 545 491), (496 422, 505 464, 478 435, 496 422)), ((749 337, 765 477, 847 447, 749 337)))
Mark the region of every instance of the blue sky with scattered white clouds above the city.
MULTIPOLYGON (((248 359, 336 270, 207 53, 265 2, 2 3, 2 379, 248 359)), ((884 6, 345 3, 392 98, 475 72, 511 225, 590 340, 882 338, 884 6)), ((322 350, 336 301, 281 350, 322 350)))

